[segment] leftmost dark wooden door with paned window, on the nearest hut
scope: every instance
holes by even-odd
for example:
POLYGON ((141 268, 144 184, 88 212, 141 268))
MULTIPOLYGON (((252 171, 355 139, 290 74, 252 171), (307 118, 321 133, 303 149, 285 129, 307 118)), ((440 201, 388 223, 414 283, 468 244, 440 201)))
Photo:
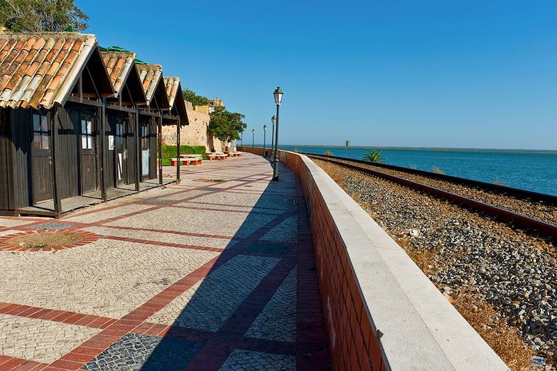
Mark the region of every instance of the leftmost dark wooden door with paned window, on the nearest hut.
POLYGON ((52 165, 50 129, 47 115, 33 113, 33 146, 31 148, 31 187, 33 203, 52 199, 52 165))

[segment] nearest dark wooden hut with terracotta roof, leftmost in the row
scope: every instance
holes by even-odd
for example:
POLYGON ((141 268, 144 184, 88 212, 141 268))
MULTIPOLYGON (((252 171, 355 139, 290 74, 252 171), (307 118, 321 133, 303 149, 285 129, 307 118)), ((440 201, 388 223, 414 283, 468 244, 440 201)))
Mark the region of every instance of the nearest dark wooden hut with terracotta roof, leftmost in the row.
POLYGON ((102 188, 113 96, 95 35, 0 34, 0 211, 59 216, 102 188))

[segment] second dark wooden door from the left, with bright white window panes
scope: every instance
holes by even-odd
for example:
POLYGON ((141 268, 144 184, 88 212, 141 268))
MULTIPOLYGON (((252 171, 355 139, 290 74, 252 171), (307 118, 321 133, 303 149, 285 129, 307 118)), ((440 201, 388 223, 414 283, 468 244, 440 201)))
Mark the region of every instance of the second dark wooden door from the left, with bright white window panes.
POLYGON ((95 121, 81 118, 81 194, 97 190, 97 161, 95 153, 95 121))

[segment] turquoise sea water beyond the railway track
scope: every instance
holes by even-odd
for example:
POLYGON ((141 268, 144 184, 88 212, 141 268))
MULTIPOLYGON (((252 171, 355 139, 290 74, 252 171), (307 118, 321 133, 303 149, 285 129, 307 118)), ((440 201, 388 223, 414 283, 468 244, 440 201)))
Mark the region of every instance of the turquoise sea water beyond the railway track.
MULTIPOLYGON (((281 145, 285 150, 299 150, 346 157, 343 147, 308 147, 281 145)), ((371 148, 370 148, 371 149, 371 148)), ((431 171, 439 168, 447 175, 481 180, 528 191, 557 196, 557 151, 534 150, 461 150, 432 148, 382 149, 385 164, 431 171)), ((366 148, 349 148, 351 159, 361 159, 366 148)))

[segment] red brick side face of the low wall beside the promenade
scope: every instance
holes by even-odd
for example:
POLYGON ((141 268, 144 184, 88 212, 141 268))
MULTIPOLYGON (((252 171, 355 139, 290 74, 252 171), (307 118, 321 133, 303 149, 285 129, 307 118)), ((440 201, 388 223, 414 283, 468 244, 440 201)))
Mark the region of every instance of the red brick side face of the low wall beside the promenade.
MULTIPOLYGON (((255 148, 260 155, 262 148, 255 148)), ((252 152, 251 147, 244 148, 252 152)), ((279 159, 300 177, 308 204, 323 312, 334 370, 386 370, 346 247, 311 171, 296 153, 279 159)))

